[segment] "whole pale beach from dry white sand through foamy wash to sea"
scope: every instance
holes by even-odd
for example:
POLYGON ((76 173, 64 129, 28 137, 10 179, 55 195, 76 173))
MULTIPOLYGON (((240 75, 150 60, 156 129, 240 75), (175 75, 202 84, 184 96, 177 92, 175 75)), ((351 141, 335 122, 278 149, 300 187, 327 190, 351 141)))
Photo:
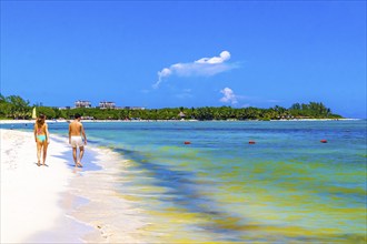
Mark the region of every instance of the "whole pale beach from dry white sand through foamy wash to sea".
POLYGON ((147 224, 140 210, 113 190, 121 173, 116 164, 123 171, 128 161, 110 150, 88 146, 85 166, 93 160, 102 170, 76 169, 66 140, 51 133, 49 166, 37 166, 31 132, 1 129, 0 133, 1 243, 147 242, 138 231, 147 224))

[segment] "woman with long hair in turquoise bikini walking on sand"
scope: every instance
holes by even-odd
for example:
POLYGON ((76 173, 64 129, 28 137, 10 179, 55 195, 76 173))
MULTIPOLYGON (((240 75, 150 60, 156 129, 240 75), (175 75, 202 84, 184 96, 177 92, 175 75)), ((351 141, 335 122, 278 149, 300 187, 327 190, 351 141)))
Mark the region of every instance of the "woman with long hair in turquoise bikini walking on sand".
POLYGON ((41 154, 43 156, 42 164, 47 166, 46 164, 46 156, 47 156, 47 148, 48 144, 50 143, 49 140, 49 130, 46 123, 46 116, 43 114, 39 115, 34 123, 34 140, 37 143, 37 165, 40 166, 41 163, 41 154), (43 152, 43 153, 42 153, 43 152))

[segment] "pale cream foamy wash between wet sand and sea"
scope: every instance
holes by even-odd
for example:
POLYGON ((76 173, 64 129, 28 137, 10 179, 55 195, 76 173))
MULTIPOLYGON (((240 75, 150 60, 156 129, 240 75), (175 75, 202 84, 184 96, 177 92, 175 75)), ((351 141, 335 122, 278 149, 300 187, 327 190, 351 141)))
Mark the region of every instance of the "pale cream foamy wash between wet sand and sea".
POLYGON ((72 180, 71 193, 89 202, 71 215, 97 230, 101 240, 98 241, 95 234, 86 235, 83 240, 87 243, 151 243, 152 237, 142 231, 149 225, 142 210, 118 192, 128 160, 109 149, 89 150, 96 152, 96 161, 85 163, 98 164, 102 170, 85 172, 72 180))

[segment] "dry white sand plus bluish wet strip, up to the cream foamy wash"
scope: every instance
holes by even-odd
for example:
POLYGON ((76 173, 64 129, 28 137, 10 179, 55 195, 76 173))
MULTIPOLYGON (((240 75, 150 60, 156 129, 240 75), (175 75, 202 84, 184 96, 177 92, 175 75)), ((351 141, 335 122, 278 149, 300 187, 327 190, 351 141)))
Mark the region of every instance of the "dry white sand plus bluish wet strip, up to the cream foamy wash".
POLYGON ((38 166, 33 133, 0 134, 1 243, 82 243, 95 230, 69 214, 81 201, 70 194, 75 172, 65 140, 51 134, 48 166, 38 166))

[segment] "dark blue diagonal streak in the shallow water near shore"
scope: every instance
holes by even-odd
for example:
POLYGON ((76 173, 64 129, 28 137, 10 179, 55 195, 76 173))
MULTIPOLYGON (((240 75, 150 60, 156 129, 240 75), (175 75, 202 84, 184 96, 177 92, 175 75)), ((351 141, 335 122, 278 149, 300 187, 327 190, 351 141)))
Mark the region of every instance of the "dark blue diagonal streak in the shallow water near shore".
MULTIPOLYGON (((206 218, 212 220, 210 225, 200 226, 204 230, 212 233, 225 233, 225 237, 218 241, 240 242, 242 231, 249 226, 244 225, 244 220, 232 216, 230 213, 224 212, 220 207, 216 206, 212 200, 205 197, 206 194, 200 192, 196 186, 196 182, 190 179, 195 177, 192 172, 175 171, 168 165, 157 164, 149 162, 138 151, 113 149, 113 151, 121 153, 126 159, 130 159, 136 163, 137 170, 145 170, 151 177, 155 177, 155 185, 168 189, 162 195, 160 201, 173 202, 185 209, 186 212, 199 213, 206 218), (230 222, 231 228, 224 225, 216 224, 216 220, 220 222, 230 222)), ((254 228, 254 226, 251 226, 254 228)))

